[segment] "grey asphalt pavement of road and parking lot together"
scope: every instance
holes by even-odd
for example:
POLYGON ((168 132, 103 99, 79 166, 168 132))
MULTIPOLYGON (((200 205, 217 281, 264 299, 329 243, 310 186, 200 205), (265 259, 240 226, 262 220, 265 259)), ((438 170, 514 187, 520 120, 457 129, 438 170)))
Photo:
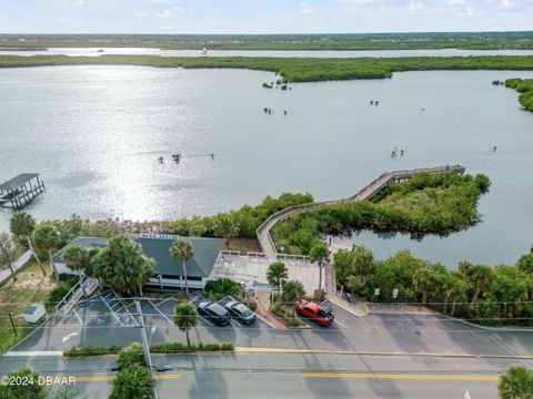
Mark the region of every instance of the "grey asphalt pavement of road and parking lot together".
MULTIPOLYGON (((184 341, 172 324, 174 304, 142 305, 152 342, 184 341), (155 327, 155 328, 153 328, 155 327)), ((153 356, 161 398, 496 398, 510 365, 533 366, 533 332, 483 329, 439 315, 380 314, 365 318, 331 305, 335 324, 279 330, 262 320, 215 327, 199 318, 192 341, 229 341, 230 355, 153 356)), ((133 309, 133 308, 132 308, 133 309)), ((78 317, 51 319, 0 358, 0 374, 30 366, 77 376, 79 397, 105 398, 114 358, 62 359, 73 345, 128 345, 140 328, 119 327, 98 303, 78 317), (83 326, 81 325, 83 323, 83 326), (36 352, 39 351, 39 352, 36 352), (13 355, 13 354, 11 354, 13 355)))

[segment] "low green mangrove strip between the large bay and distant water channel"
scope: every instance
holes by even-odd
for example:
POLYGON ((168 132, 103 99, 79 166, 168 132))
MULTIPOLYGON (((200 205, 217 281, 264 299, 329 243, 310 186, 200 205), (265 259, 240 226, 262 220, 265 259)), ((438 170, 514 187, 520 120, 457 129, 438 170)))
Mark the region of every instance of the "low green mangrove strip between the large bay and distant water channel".
POLYGON ((42 65, 143 65, 159 68, 224 68, 276 72, 291 82, 385 79, 393 72, 436 70, 533 70, 531 55, 410 57, 410 58, 251 58, 157 55, 1 55, 0 68, 42 65))

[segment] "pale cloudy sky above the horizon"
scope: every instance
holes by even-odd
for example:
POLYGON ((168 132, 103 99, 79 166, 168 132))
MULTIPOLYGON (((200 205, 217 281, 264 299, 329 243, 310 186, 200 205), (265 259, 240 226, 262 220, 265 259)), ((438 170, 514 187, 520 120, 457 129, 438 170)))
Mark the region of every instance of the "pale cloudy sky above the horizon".
POLYGON ((0 33, 533 30, 533 0, 0 0, 0 33))

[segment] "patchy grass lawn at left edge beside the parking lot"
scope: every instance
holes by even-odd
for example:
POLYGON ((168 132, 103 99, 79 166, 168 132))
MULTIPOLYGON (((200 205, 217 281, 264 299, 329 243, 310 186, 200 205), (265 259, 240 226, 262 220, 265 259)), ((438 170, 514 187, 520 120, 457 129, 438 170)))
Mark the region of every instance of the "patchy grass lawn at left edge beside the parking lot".
POLYGON ((48 293, 57 286, 51 277, 51 267, 46 264, 47 277, 34 262, 30 262, 17 274, 18 280, 7 280, 0 286, 0 351, 6 351, 19 340, 28 336, 36 326, 24 321, 24 310, 31 303, 44 303, 48 293), (14 313, 18 336, 14 336, 9 314, 14 313))

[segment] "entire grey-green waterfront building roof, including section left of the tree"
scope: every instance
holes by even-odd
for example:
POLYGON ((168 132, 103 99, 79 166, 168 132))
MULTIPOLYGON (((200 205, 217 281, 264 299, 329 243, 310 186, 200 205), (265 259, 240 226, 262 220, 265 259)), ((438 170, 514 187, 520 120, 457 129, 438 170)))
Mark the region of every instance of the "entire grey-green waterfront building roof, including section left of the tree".
MULTIPOLYGON (((187 262, 187 275, 190 277, 209 277, 224 245, 223 239, 155 234, 133 237, 133 241, 141 245, 144 255, 155 260, 155 275, 179 278, 183 275, 181 263, 174 262, 170 257, 170 248, 177 239, 187 239, 191 243, 194 254, 194 256, 187 262)), ((79 245, 84 248, 104 248, 108 246, 108 239, 100 237, 78 237, 59 250, 53 256, 53 262, 64 264, 63 252, 71 245, 79 245)))

